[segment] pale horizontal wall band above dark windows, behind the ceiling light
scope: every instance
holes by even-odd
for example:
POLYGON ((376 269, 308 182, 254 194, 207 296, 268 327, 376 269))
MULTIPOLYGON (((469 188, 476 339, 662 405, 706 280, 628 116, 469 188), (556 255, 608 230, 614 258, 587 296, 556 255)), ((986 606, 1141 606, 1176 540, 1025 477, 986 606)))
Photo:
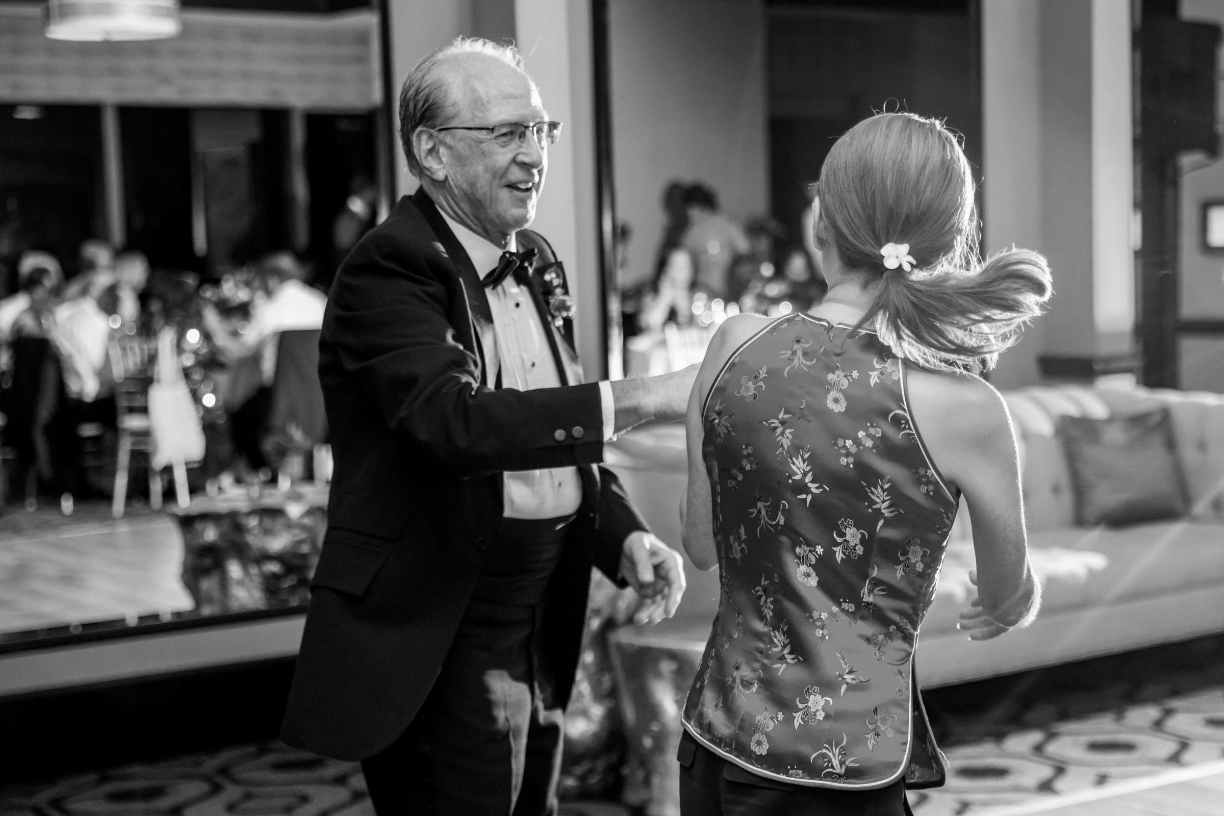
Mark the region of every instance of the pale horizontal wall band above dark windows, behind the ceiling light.
POLYGON ((381 103, 377 17, 182 12, 182 35, 65 43, 40 6, 0 7, 0 100, 368 110, 381 103))

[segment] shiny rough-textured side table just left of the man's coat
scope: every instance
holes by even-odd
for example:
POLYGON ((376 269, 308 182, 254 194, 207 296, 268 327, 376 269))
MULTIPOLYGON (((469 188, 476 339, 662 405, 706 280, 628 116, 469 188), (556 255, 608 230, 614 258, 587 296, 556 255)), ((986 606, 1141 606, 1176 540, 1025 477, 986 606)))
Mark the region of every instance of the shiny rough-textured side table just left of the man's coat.
POLYGON ((328 488, 231 493, 174 508, 182 584, 200 614, 306 604, 327 530, 328 488))

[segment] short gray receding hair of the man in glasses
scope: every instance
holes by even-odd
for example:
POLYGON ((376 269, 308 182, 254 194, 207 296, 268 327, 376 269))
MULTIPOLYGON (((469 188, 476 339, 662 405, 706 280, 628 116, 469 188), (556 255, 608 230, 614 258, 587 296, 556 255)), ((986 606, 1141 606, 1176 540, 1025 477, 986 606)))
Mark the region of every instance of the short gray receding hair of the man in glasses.
POLYGON ((494 43, 482 37, 457 37, 416 64, 399 91, 399 141, 408 159, 409 171, 421 177, 421 163, 412 150, 412 135, 421 127, 437 127, 450 111, 454 102, 449 98, 447 77, 438 69, 448 57, 459 54, 485 54, 506 62, 512 69, 531 78, 523 55, 513 44, 494 43))

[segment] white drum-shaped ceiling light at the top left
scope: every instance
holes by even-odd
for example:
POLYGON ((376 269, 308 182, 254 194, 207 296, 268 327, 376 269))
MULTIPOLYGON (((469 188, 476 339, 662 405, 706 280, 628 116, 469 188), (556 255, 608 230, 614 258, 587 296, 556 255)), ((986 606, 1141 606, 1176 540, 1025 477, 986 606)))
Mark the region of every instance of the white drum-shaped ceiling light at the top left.
POLYGON ((179 0, 47 0, 51 39, 165 39, 180 31, 179 0))

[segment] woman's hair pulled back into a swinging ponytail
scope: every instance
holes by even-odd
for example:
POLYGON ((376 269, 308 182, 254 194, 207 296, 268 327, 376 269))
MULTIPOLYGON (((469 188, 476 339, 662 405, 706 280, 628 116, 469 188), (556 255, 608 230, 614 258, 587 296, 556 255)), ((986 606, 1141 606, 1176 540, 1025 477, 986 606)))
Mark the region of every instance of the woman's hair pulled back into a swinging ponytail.
POLYGON ((847 131, 820 171, 820 217, 848 269, 879 280, 863 324, 898 356, 936 369, 993 367, 1051 294, 1045 258, 977 254, 973 176, 944 125, 878 114, 847 131), (889 269, 881 250, 907 245, 889 269))

